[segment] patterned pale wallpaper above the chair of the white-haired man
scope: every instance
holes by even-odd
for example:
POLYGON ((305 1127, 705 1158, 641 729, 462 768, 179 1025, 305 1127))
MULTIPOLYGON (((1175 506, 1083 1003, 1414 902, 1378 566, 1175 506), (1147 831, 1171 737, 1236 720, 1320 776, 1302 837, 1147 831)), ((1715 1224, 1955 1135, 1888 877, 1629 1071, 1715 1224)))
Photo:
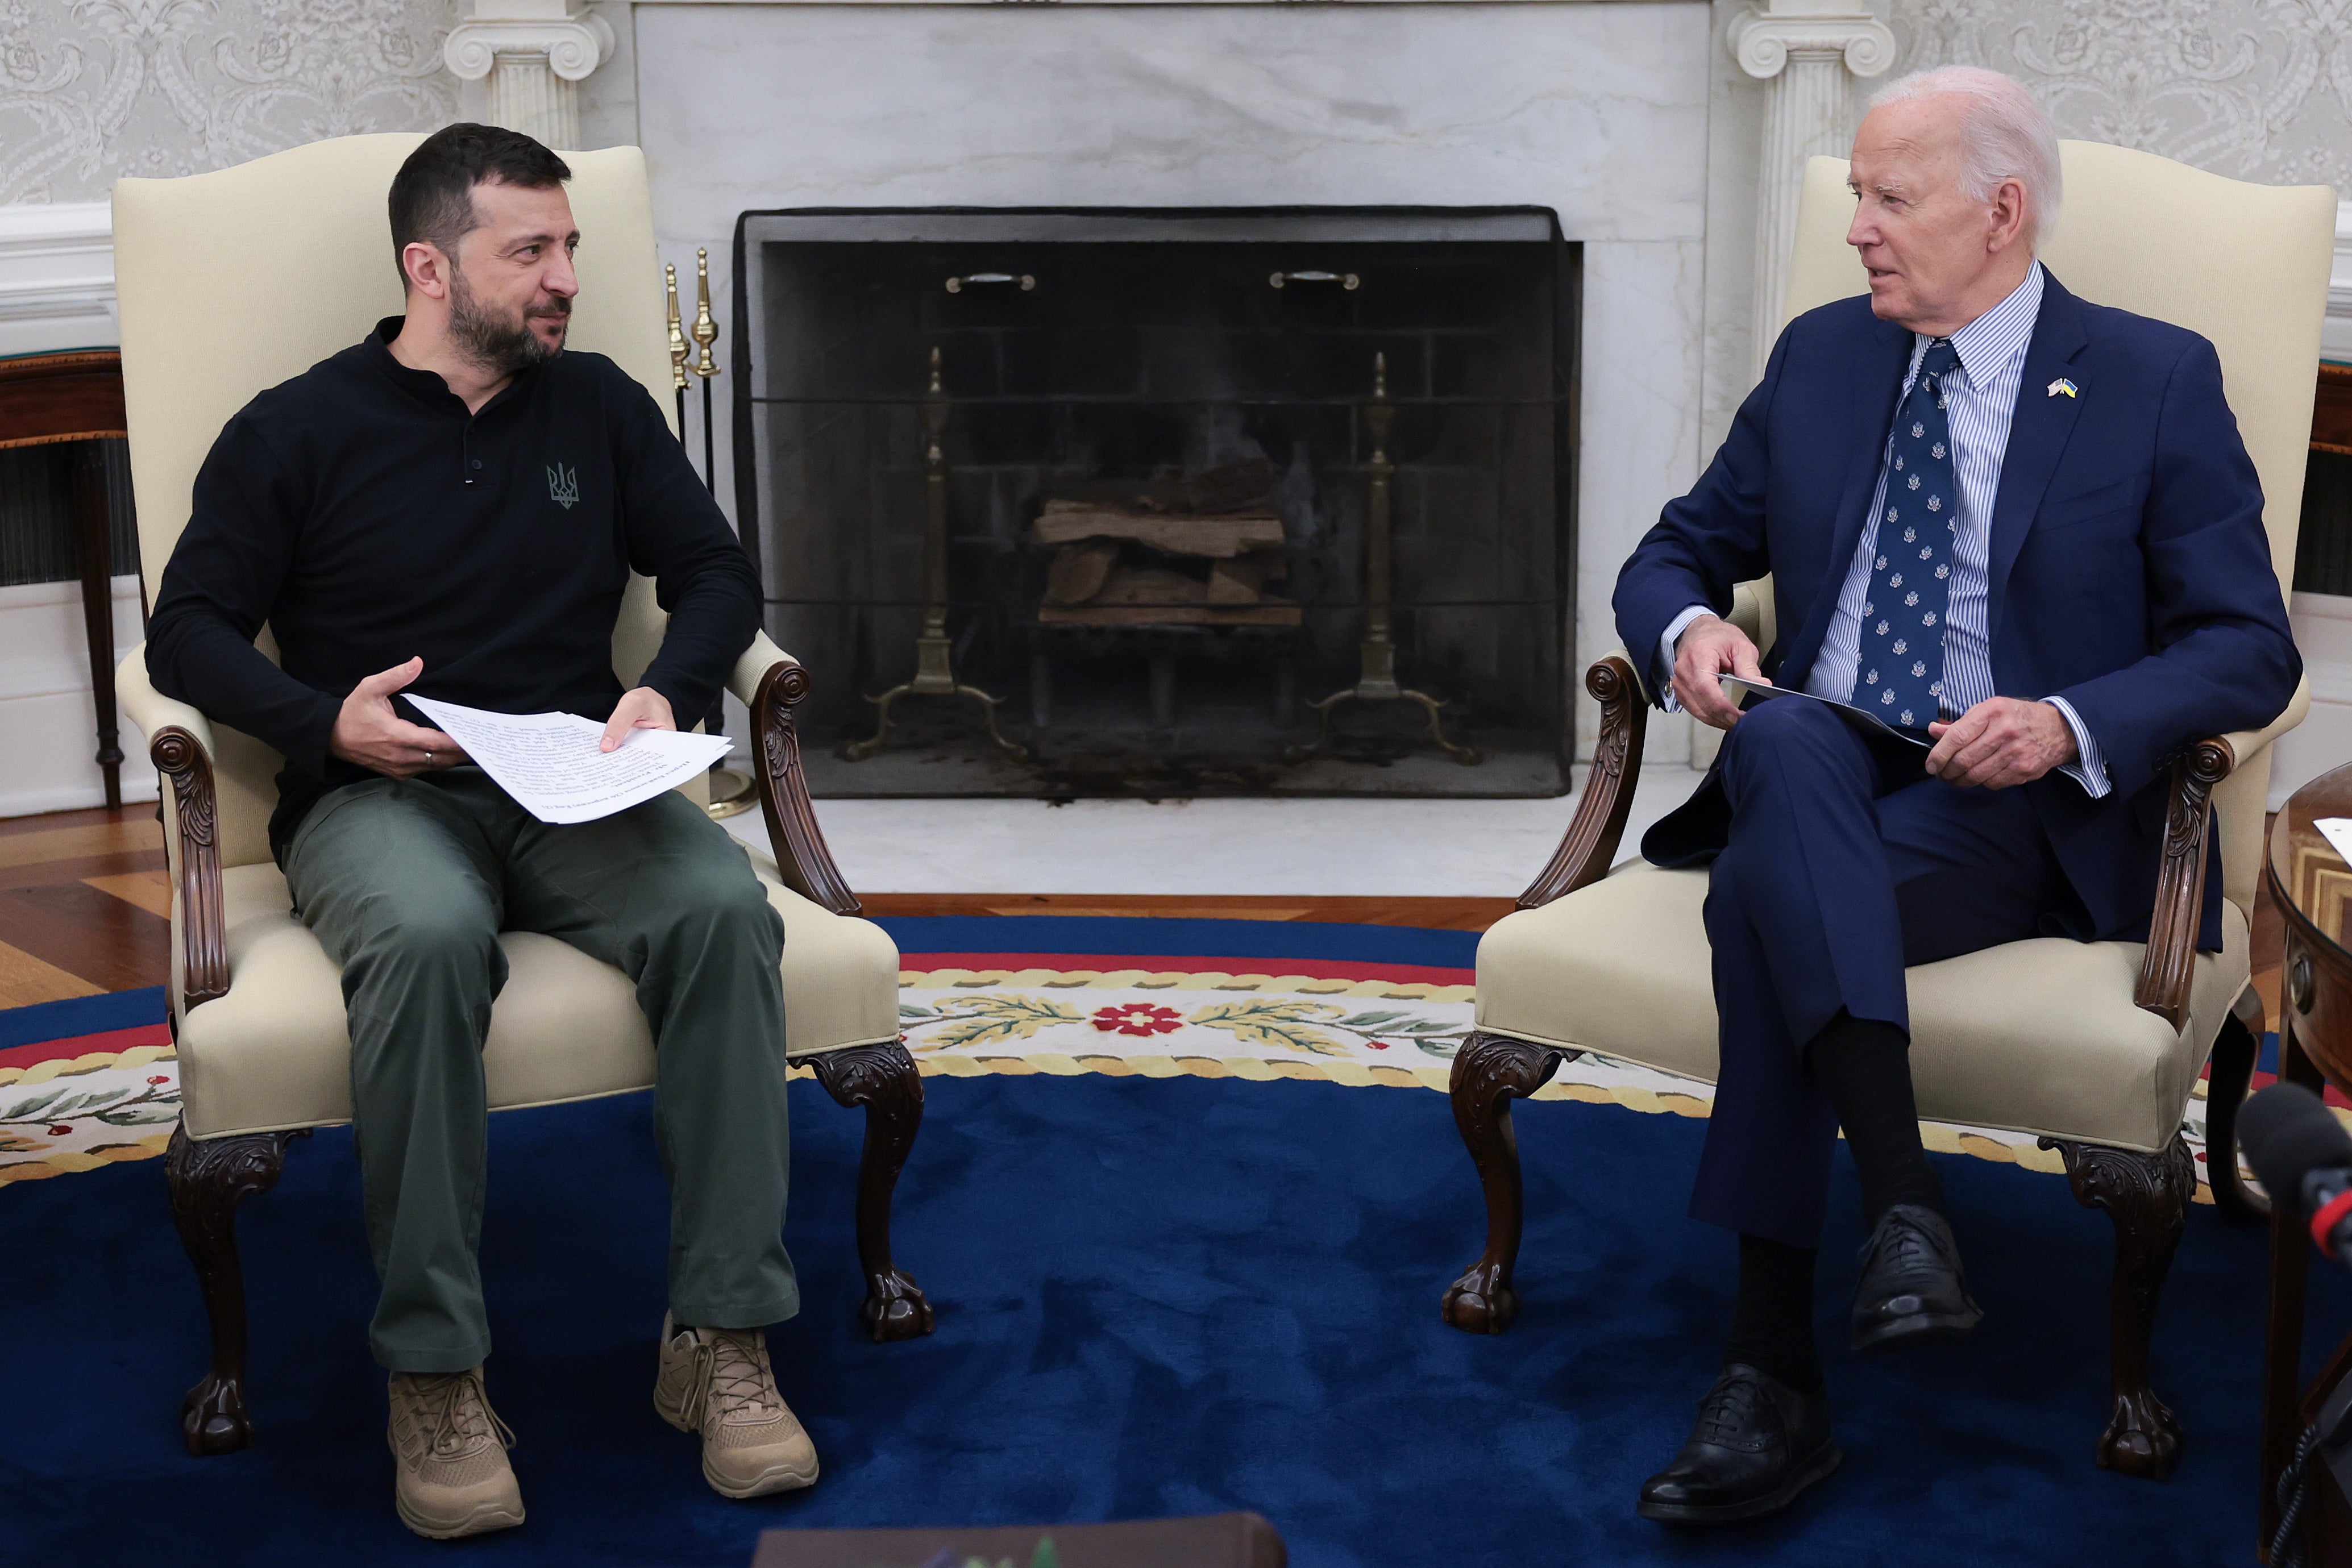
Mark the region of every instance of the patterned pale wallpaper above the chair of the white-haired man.
POLYGON ((2352 0, 1893 0, 1896 75, 1992 66, 2058 129, 2352 197, 2352 0))

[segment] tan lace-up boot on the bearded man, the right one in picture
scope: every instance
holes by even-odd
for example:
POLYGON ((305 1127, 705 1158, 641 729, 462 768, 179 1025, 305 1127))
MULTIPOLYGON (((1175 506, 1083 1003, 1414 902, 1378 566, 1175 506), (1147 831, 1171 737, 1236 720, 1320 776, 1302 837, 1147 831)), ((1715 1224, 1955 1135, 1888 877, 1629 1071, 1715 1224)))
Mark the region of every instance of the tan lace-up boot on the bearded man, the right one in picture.
POLYGON ((816 1443, 776 1392, 757 1328, 680 1328, 661 1319, 654 1410, 703 1434, 703 1481, 722 1497, 764 1497, 816 1481, 816 1443))

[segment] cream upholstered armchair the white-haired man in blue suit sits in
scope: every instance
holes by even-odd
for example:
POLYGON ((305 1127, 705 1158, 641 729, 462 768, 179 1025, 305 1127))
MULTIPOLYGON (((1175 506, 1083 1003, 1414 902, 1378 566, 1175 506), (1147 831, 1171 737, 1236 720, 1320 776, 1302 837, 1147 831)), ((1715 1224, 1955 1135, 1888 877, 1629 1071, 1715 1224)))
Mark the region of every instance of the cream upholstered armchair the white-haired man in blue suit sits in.
MULTIPOLYGON (((2324 186, 2246 186, 2084 141, 2063 143, 2063 158, 2065 212, 2044 249, 2051 273, 2082 299, 2178 322, 2216 343, 2263 477, 2272 562, 2279 581, 2291 581, 2336 195, 2324 186)), ((1785 317, 1865 289, 1844 244, 1851 214, 1846 165, 1813 158, 1785 317)), ((1740 585, 1733 621, 1769 649, 1771 592, 1740 585)), ((1472 1333, 1501 1333, 1517 1312, 1512 1095, 1534 1093, 1581 1053, 1715 1077, 1700 924, 1708 872, 1658 870, 1639 856, 1611 867, 1642 766, 1651 670, 1639 654, 1621 649, 1585 672, 1602 710, 1585 797, 1550 865, 1519 896, 1519 912, 1477 950, 1477 1032, 1454 1063, 1454 1119, 1486 1190, 1486 1251, 1444 1295, 1446 1321, 1472 1333)), ((2307 705, 2305 686, 2267 729, 2211 736, 2173 764, 2150 943, 2037 938, 1907 976, 1922 1117, 2037 1133, 2063 1157, 2074 1197, 2114 1222, 2114 1406, 2098 1460, 2140 1476, 2166 1476, 2180 1450, 2180 1427, 2147 1382, 2147 1340, 2197 1190, 2180 1124, 2209 1053, 2213 1197, 2234 1213, 2253 1206, 2234 1159, 2237 1103, 2263 1032, 2263 1009, 2246 987, 2246 929, 2267 748, 2307 705), (2201 954, 2213 820, 2230 907, 2223 952, 2201 954)))

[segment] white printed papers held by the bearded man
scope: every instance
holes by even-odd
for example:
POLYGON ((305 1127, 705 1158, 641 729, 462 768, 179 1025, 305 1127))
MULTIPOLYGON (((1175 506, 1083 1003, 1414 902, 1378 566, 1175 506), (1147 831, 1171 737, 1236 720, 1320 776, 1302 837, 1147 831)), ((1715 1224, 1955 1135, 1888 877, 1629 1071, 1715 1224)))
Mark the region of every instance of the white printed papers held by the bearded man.
POLYGON ((485 712, 412 696, 515 804, 541 823, 593 823, 675 790, 734 750, 727 736, 633 729, 597 750, 604 726, 576 712, 485 712))

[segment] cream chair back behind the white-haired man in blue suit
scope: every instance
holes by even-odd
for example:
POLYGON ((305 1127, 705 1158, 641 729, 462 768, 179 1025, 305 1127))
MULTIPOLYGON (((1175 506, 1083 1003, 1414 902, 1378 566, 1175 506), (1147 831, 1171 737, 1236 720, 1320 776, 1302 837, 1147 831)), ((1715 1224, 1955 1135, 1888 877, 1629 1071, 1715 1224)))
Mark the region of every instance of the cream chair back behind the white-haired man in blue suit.
MULTIPOLYGON (((2098 141, 2060 143, 2065 205, 2042 259, 2067 289, 2211 339, 2237 428, 2263 480, 2279 585, 2296 574, 2303 458, 2312 440, 2319 322, 2336 259, 2336 193, 2251 186, 2098 141)), ((1846 244, 1846 160, 1813 158, 1797 209, 1783 322, 1870 289, 1846 244)), ((132 414, 136 442, 136 409, 132 414)), ((2223 884, 2253 910, 2270 795, 2265 750, 2213 792, 2223 884)))

